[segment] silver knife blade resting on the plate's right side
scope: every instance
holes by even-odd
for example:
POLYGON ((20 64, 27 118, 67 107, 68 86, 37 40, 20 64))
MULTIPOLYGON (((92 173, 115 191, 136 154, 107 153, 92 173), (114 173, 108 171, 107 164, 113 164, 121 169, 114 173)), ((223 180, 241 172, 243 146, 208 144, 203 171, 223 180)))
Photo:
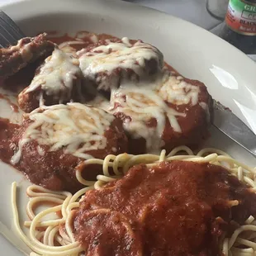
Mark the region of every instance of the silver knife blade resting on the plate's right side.
POLYGON ((229 108, 213 100, 213 125, 256 158, 256 135, 229 108))

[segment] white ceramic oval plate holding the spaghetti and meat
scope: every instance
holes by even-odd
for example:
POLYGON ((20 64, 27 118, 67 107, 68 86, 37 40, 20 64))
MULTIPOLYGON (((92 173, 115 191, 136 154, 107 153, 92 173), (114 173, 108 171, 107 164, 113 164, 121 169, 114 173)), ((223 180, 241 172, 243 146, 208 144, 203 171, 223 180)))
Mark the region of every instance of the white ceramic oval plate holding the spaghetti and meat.
MULTIPOLYGON (((239 50, 210 32, 187 21, 170 17, 146 7, 113 0, 26 1, 2 7, 27 36, 39 31, 73 33, 87 30, 113 36, 128 36, 156 45, 168 64, 187 78, 201 80, 211 95, 230 107, 256 133, 256 64, 239 50)), ((0 116, 17 119, 0 101, 0 116)), ((223 149, 235 158, 256 166, 256 159, 214 128, 206 145, 223 149)), ((24 214, 26 186, 15 169, 0 163, 0 230, 17 243, 12 232, 11 183, 20 190, 19 208, 24 214), (11 230, 11 231, 10 231, 11 230)), ((0 235, 1 255, 21 253, 0 235)), ((21 243, 20 243, 21 244, 21 243)))

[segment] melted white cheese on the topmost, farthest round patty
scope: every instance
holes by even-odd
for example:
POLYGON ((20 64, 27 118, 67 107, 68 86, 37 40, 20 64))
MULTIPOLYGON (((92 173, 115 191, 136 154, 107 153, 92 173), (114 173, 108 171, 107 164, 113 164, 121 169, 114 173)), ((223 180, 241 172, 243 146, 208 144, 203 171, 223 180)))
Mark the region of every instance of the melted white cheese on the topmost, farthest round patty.
MULTIPOLYGON (((105 73, 110 76, 115 69, 132 69, 139 77, 144 77, 149 75, 145 70, 146 61, 149 59, 154 59, 159 69, 162 69, 163 55, 152 45, 141 41, 132 45, 128 38, 123 38, 120 43, 114 43, 110 40, 106 40, 106 42, 107 45, 97 46, 91 51, 86 49, 78 51, 80 68, 86 78, 107 83, 97 80, 99 79, 97 74, 105 73)), ((102 86, 109 87, 110 84, 102 86)))

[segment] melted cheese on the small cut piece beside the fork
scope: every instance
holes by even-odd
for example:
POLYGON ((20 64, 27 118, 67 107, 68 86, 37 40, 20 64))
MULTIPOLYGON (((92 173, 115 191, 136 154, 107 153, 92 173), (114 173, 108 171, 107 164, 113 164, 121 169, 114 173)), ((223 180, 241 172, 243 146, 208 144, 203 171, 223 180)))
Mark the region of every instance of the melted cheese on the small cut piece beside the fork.
POLYGON ((39 73, 24 93, 41 88, 46 95, 57 97, 59 103, 67 102, 70 100, 74 83, 78 87, 78 92, 80 91, 79 77, 81 77, 81 70, 78 59, 55 49, 52 55, 45 59, 45 64, 40 67, 39 73))

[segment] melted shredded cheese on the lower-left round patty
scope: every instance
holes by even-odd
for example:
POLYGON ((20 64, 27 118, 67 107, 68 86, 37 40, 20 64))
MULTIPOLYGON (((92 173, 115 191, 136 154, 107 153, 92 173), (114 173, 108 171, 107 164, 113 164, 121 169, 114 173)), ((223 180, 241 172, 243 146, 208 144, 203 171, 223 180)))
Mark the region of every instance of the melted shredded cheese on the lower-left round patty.
POLYGON ((106 111, 80 103, 38 108, 27 118, 33 122, 19 142, 12 164, 19 162, 22 147, 31 140, 50 146, 50 151, 64 149, 66 154, 90 159, 92 156, 86 154, 87 151, 105 149, 107 139, 104 133, 114 120, 114 116, 106 111))

